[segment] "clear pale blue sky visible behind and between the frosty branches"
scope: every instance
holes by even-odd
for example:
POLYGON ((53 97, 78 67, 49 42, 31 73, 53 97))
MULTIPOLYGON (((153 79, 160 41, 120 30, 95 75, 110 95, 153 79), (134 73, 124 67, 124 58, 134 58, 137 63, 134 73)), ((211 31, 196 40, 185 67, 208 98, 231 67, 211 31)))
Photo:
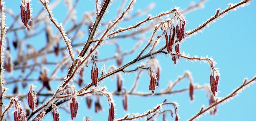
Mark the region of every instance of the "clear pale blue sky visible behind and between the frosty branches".
MULTIPOLYGON (((12 9, 15 14, 19 13, 20 10, 20 0, 5 0, 6 7, 12 9)), ((179 6, 181 9, 185 9, 189 6, 192 0, 137 0, 134 5, 134 10, 144 9, 150 3, 154 2, 155 7, 153 10, 149 11, 153 16, 161 13, 162 11, 170 10, 175 5, 179 6)), ((195 0, 197 3, 199 0, 195 0)), ((192 11, 186 14, 186 18, 188 20, 188 25, 186 30, 191 30, 195 27, 198 27, 203 21, 206 21, 208 18, 214 15, 214 12, 217 8, 225 9, 228 3, 233 2, 237 3, 240 0, 209 0, 205 3, 205 7, 202 9, 198 9, 196 11, 192 11)), ((54 17, 58 20, 58 22, 62 22, 67 14, 67 8, 63 4, 64 0, 61 0, 61 4, 59 4, 55 9, 53 9, 54 17)), ((37 2, 37 0, 32 0, 31 7, 33 8, 33 14, 38 13, 39 10, 43 7, 41 4, 37 2)), ((82 19, 82 15, 85 11, 94 11, 95 10, 95 1, 91 0, 80 0, 77 6, 77 22, 80 22, 82 19)), ((121 4, 121 0, 116 0, 111 8, 109 9, 109 13, 106 14, 105 20, 109 21, 116 16, 117 7, 121 4)), ((133 11, 132 13, 134 13, 133 11)), ((190 55, 198 55, 201 56, 210 56, 217 62, 217 68, 219 68, 221 73, 220 85, 218 86, 218 90, 221 91, 219 93, 220 97, 225 97, 227 94, 231 93, 233 89, 237 88, 242 84, 242 80, 245 77, 251 79, 256 74, 256 41, 254 38, 255 35, 255 11, 256 4, 252 2, 249 6, 245 6, 244 8, 240 8, 235 12, 229 12, 228 15, 224 16, 224 18, 220 19, 214 24, 211 24, 210 27, 206 28, 203 33, 197 34, 191 38, 188 38, 187 41, 182 43, 181 50, 185 51, 190 55)), ((121 27, 127 27, 129 25, 134 25, 139 20, 143 20, 147 15, 136 17, 135 19, 124 22, 120 24, 121 27)), ((10 26, 13 19, 7 15, 7 26, 10 26)), ((71 22, 70 22, 71 23, 71 22)), ((17 25, 16 25, 17 26, 17 25)), ((44 24, 41 25, 41 28, 44 27, 44 24)), ((65 26, 69 28, 70 25, 65 26)), ((103 28, 103 27, 102 27, 103 28)), ((56 29, 54 29, 56 31, 56 29)), ((88 32, 88 28, 83 26, 81 30, 85 30, 88 32)), ((55 33, 55 32, 54 32, 55 33)), ((147 36, 149 36, 147 34, 147 36)), ((18 33, 20 38, 24 36, 24 33, 20 31, 18 33)), ((69 35, 72 37, 73 33, 69 35)), ((79 43, 87 40, 88 35, 76 41, 75 43, 79 43)), ((12 40, 13 33, 8 34, 9 40, 12 40)), ((71 38, 72 40, 72 38, 71 38)), ((45 46, 45 33, 43 32, 39 36, 26 40, 26 43, 32 43, 38 50, 45 46)), ((119 44, 123 46, 122 50, 129 51, 134 47, 137 41, 132 39, 118 39, 119 44)), ((143 43, 144 45, 146 42, 143 43)), ((164 44, 164 41, 158 47, 161 47, 164 44)), ((143 46, 144 46, 143 45, 143 46)), ((63 41, 61 42, 61 46, 65 46, 63 41)), ((143 47, 141 46, 139 50, 143 47)), ((79 47, 81 48, 81 47, 79 47)), ((115 53, 114 45, 105 45, 99 49, 99 59, 106 58, 107 56, 111 56, 115 53), (107 51, 106 51, 107 50, 107 51)), ((136 51, 138 53, 138 51, 136 51)), ((133 59, 137 53, 129 55, 124 58, 124 63, 129 62, 133 59)), ((16 60, 16 50, 11 47, 11 53, 13 55, 13 60, 16 60)), ((49 55, 48 61, 56 61, 56 59, 61 59, 61 56, 55 57, 53 54, 49 55)), ((160 92, 161 89, 165 88, 170 80, 175 80, 178 75, 182 75, 184 71, 189 70, 192 73, 194 78, 194 83, 198 83, 200 85, 204 85, 209 83, 209 66, 206 63, 192 63, 187 62, 184 59, 181 59, 178 62, 177 66, 174 66, 171 61, 171 57, 166 57, 163 55, 157 56, 160 64, 162 66, 161 72, 161 80, 160 87, 156 89, 156 92, 160 92)), ((109 67, 112 64, 115 64, 115 61, 109 61, 106 63, 99 63, 99 67, 106 64, 109 67)), ((139 63, 135 64, 138 65, 139 63)), ((131 67, 130 69, 134 68, 131 67)), ((50 73, 53 71, 55 66, 47 66, 50 70, 50 73)), ((84 75, 85 83, 89 83, 90 80, 90 68, 85 70, 84 75)), ((40 69, 40 68, 38 68, 40 69)), ((28 73, 28 70, 27 72, 28 73)), ((12 75, 18 75, 20 72, 13 73, 12 75)), ((61 77, 66 74, 66 71, 63 73, 58 73, 58 76, 61 77)), ((10 75, 8 73, 5 74, 6 77, 10 75)), ((124 85, 129 90, 133 85, 133 81, 136 78, 136 74, 122 74, 125 79, 124 85)), ((38 73, 33 73, 29 78, 38 78, 38 73)), ((148 91, 148 83, 149 77, 144 72, 142 77, 140 78, 139 85, 137 91, 149 92, 148 91)), ((37 90, 41 87, 41 83, 32 82, 34 85, 38 86, 37 90)), ((56 89, 57 85, 60 82, 51 83, 52 89, 56 89)), ((116 90, 116 79, 111 80, 110 78, 104 80, 102 84, 109 87, 110 91, 116 90)), ((180 84, 175 87, 175 89, 183 89, 188 87, 188 80, 185 79, 180 84)), ((7 94, 12 92, 14 85, 7 85, 7 88, 10 88, 10 91, 7 94)), ((21 89, 21 93, 27 93, 26 89, 21 89)), ((79 89, 79 87, 77 87, 79 89)), ((244 120, 244 121, 256 121, 255 119, 255 100, 256 96, 254 92, 256 91, 255 85, 245 89, 239 97, 234 98, 229 103, 224 104, 223 106, 218 106, 218 111, 216 116, 210 116, 210 114, 206 114, 200 118, 200 121, 229 121, 229 120, 244 120)), ((47 92, 47 90, 44 90, 47 92)), ((161 103, 164 99, 168 99, 168 101, 175 101, 179 103, 179 111, 178 114, 180 116, 180 121, 184 121, 189 119, 191 116, 195 115, 201 106, 204 104, 208 106, 208 98, 206 97, 205 90, 196 90, 194 93, 194 101, 190 102, 188 92, 174 94, 174 95, 164 95, 164 96, 149 96, 149 97, 138 97, 138 96, 129 96, 128 102, 128 110, 130 113, 144 113, 147 109, 152 109, 157 103, 161 103)), ((95 97, 93 96, 93 99, 95 97)), ((115 117, 123 117, 125 112, 122 107, 122 97, 114 96, 116 103, 116 116, 115 117)), ((99 113, 94 112, 94 101, 92 104, 92 109, 88 109, 85 104, 84 99, 80 99, 79 104, 79 115, 75 119, 76 121, 81 121, 83 117, 90 116, 94 121, 106 121, 108 118, 108 105, 107 100, 101 98, 101 102, 104 108, 104 111, 99 113)), ((7 103, 5 101, 5 103, 7 103)), ((167 107, 172 108, 172 107, 167 107)), ((166 108, 165 108, 166 109, 166 108)), ((63 110, 60 115, 62 121, 70 120, 70 115, 67 115, 63 110)), ((170 118, 170 115, 167 116, 168 120, 174 120, 170 118)), ((161 116, 158 117, 161 120, 161 116)), ((48 114, 45 120, 52 120, 52 115, 48 114)))

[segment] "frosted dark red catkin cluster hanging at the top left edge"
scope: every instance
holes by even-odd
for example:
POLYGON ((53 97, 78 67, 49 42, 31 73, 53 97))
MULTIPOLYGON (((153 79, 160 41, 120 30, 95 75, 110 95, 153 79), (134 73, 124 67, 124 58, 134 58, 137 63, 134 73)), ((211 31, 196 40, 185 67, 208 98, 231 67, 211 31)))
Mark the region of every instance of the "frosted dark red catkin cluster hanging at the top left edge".
MULTIPOLYGON (((22 1, 22 3, 23 3, 23 1, 22 1)), ((24 23, 24 25, 26 27, 28 27, 28 20, 31 18, 30 9, 29 9, 29 0, 28 0, 27 5, 25 4, 25 0, 24 0, 24 7, 23 7, 23 5, 21 5, 20 11, 21 11, 21 20, 24 23), (25 10, 25 8, 27 8, 27 11, 25 10)))

